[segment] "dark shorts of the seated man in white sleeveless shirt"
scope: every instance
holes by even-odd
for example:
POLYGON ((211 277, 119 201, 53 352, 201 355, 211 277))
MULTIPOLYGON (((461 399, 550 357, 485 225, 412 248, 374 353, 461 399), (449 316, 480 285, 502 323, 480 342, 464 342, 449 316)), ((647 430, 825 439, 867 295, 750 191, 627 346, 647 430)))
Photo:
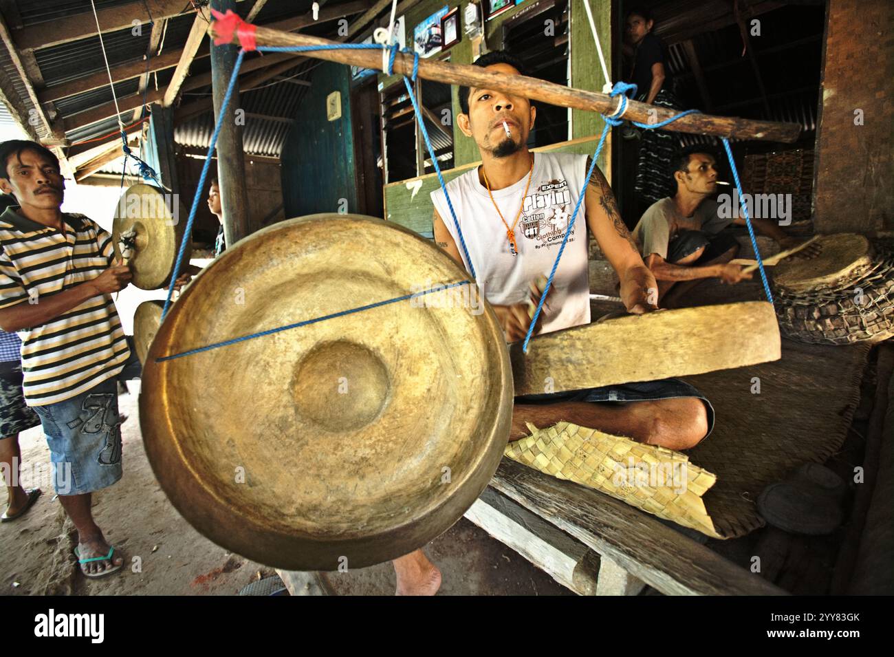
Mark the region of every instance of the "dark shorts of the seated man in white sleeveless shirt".
MULTIPOLYGON (((631 401, 672 400, 679 397, 695 397, 702 400, 704 410, 708 414, 708 433, 714 428, 714 407, 701 392, 679 379, 659 379, 657 381, 641 381, 639 383, 619 383, 605 385, 601 388, 585 388, 550 394, 521 395, 515 398, 517 404, 555 404, 560 401, 587 401, 597 404, 616 404, 631 401)), ((704 438, 702 440, 704 440, 704 438)))

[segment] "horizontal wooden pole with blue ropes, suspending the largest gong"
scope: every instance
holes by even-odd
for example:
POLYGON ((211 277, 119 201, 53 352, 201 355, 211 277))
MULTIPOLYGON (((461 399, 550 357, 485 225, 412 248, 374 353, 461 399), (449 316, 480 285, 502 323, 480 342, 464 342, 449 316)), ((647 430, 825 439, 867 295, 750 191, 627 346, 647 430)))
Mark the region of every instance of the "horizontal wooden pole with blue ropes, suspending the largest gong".
MULTIPOLYGON (((212 30, 214 26, 212 26, 212 30)), ((291 34, 263 27, 257 28, 257 44, 265 46, 332 46, 336 41, 326 38, 311 37, 304 34, 291 34)), ((350 63, 367 69, 382 70, 382 55, 371 49, 352 50, 317 50, 308 56, 325 59, 331 62, 350 63)), ((413 72, 413 57, 397 55, 394 72, 409 75, 413 72)), ((472 86, 477 88, 493 88, 522 95, 551 105, 572 107, 611 114, 615 111, 618 100, 596 91, 585 91, 569 88, 546 80, 536 80, 524 75, 510 75, 487 71, 479 66, 439 62, 432 59, 420 59, 418 76, 425 80, 435 80, 447 84, 472 86)), ((638 122, 661 122, 678 114, 675 110, 646 105, 637 101, 629 101, 624 118, 638 122)), ((772 141, 793 142, 797 140, 801 128, 797 123, 780 123, 769 121, 752 121, 730 116, 712 116, 710 114, 687 114, 678 121, 664 128, 665 131, 688 132, 692 134, 709 134, 738 139, 768 139, 772 141)))

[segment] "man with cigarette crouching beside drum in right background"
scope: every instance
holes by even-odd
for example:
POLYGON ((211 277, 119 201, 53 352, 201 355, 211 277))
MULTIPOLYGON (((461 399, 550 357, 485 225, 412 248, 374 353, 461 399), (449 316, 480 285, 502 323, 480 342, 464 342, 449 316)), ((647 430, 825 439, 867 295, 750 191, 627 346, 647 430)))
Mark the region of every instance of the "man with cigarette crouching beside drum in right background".
MULTIPOLYGON (((697 145, 682 149, 671 160, 671 171, 677 192, 649 206, 633 231, 637 248, 658 282, 662 307, 685 305, 682 297, 704 278, 735 284, 753 276, 730 263, 738 254, 738 240, 721 231, 733 223, 745 225, 745 217, 738 207, 721 212, 710 198, 718 185, 717 160, 710 150, 697 145)), ((801 241, 772 220, 751 217, 751 223, 756 234, 779 242, 780 250, 801 241)), ((810 252, 811 247, 805 248, 803 256, 810 252)))

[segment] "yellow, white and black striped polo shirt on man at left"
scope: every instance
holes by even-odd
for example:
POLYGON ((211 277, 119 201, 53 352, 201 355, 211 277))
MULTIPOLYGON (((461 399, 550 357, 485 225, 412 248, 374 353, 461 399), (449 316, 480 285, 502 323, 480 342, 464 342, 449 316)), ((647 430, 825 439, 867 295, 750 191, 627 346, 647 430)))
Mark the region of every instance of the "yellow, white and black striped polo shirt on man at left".
MULTIPOLYGON (((84 215, 64 214, 65 234, 20 215, 0 215, 0 308, 39 303, 112 263, 112 236, 84 215)), ((111 294, 19 332, 29 406, 71 399, 121 372, 130 356, 111 294)))

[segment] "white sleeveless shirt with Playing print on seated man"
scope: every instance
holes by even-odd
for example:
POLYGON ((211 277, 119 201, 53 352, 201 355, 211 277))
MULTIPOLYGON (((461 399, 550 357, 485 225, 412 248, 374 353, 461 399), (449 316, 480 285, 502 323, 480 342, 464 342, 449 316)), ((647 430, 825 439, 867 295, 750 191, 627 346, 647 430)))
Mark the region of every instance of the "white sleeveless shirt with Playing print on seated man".
MULTIPOLYGON (((510 252, 506 227, 493 207, 487 188, 478 181, 477 167, 447 183, 468 255, 475 265, 477 282, 482 283, 485 299, 494 305, 522 303, 527 299, 528 283, 541 274, 549 276, 586 179, 586 155, 533 155, 534 173, 524 205, 522 194, 527 174, 510 187, 492 192, 493 201, 510 226, 522 206, 515 226, 518 256, 510 252)), ((434 190, 431 197, 468 270, 466 254, 443 190, 434 190)), ((544 316, 541 333, 590 322, 586 242, 586 207, 581 203, 541 311, 544 316)))

